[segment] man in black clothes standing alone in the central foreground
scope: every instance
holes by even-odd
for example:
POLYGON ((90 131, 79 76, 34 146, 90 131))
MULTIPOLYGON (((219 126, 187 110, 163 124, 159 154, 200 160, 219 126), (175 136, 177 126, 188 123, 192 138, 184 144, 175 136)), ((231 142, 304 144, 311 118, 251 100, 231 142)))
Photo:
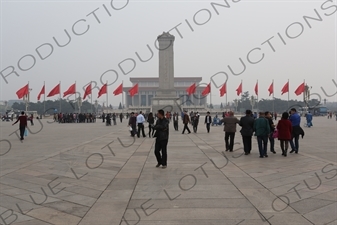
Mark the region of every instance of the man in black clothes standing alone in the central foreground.
POLYGON ((167 143, 169 139, 169 120, 165 118, 164 110, 160 109, 157 113, 158 120, 153 129, 156 131, 156 144, 154 148, 154 154, 157 158, 156 167, 165 169, 167 167, 167 143), (161 151, 161 155, 160 155, 161 151))

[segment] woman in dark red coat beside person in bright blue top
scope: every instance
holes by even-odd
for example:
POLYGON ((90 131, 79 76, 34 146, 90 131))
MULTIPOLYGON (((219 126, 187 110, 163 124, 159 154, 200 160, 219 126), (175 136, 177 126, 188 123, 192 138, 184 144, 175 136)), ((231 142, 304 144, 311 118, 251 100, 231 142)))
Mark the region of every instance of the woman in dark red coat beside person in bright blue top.
POLYGON ((284 112, 282 114, 281 120, 277 124, 278 139, 280 140, 280 145, 282 149, 282 155, 287 156, 289 141, 291 140, 292 126, 288 119, 289 113, 284 112))

